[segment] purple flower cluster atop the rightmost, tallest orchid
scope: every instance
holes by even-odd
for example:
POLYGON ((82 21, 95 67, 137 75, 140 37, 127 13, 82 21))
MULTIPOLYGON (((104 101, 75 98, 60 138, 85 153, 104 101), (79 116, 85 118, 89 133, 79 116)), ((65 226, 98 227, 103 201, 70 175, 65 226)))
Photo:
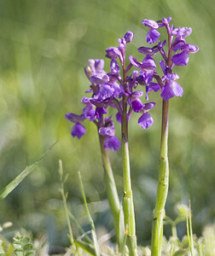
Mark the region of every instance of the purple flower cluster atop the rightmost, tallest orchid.
MULTIPOLYGON (((140 47, 138 51, 146 55, 144 61, 150 60, 153 63, 152 56, 157 52, 160 52, 160 55, 163 60, 160 61, 160 67, 164 73, 164 75, 160 78, 158 73, 153 70, 153 73, 148 73, 148 77, 143 78, 146 85, 146 93, 148 98, 149 90, 160 90, 160 96, 163 100, 168 101, 173 96, 183 96, 183 88, 177 84, 175 81, 179 79, 177 73, 172 73, 172 68, 176 66, 185 66, 189 62, 189 53, 195 53, 199 50, 199 48, 194 44, 187 44, 185 38, 188 37, 191 32, 191 27, 177 27, 170 26, 169 22, 171 21, 171 17, 168 19, 164 18, 163 20, 142 20, 142 25, 148 26, 150 29, 146 35, 146 41, 148 44, 154 44, 160 38, 160 32, 158 31, 161 27, 166 27, 166 32, 168 35, 168 50, 167 55, 164 49, 166 45, 166 40, 161 43, 158 41, 158 44, 154 45, 152 48, 148 47, 140 47), (175 55, 172 55, 172 52, 177 52, 175 55), (153 78, 157 81, 154 83, 153 78)), ((130 57, 132 60, 132 65, 135 67, 142 67, 142 63, 138 62, 132 56, 130 57)), ((154 62, 155 63, 155 62, 154 62)), ((153 65, 151 66, 153 67, 153 65)))

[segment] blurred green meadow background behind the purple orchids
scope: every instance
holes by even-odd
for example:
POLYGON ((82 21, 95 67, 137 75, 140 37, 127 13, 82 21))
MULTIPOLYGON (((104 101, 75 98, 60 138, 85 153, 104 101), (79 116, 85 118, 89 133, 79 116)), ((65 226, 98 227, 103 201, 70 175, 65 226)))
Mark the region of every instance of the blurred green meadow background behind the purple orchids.
MULTIPOLYGON (((200 51, 187 67, 177 67, 182 98, 170 102, 170 192, 166 214, 175 218, 178 202, 193 211, 193 230, 200 235, 215 217, 215 16, 212 0, 1 0, 0 2, 0 187, 37 160, 59 140, 38 168, 0 207, 0 223, 12 221, 35 236, 48 233, 49 242, 67 245, 67 224, 58 191, 58 160, 69 173, 66 189, 70 210, 87 229, 78 187, 81 172, 90 211, 98 230, 113 229, 102 183, 103 170, 96 127, 85 122, 87 134, 72 138, 68 112, 81 113, 88 89, 84 67, 104 58, 128 30, 135 33, 128 54, 146 46, 143 19, 172 17, 174 26, 191 26, 190 44, 200 51)), ((108 70, 109 61, 106 62, 108 70)), ((149 244, 160 155, 159 95, 151 114, 154 125, 142 131, 137 115, 130 123, 131 175, 137 237, 149 244)), ((119 127, 117 134, 119 135, 119 127)), ((112 154, 113 171, 122 195, 121 152, 112 154)), ((11 230, 12 231, 12 230, 11 230)), ((165 227, 166 236, 170 230, 165 227)), ((178 227, 179 236, 186 233, 178 227)), ((9 236, 9 231, 8 234, 9 236)))

